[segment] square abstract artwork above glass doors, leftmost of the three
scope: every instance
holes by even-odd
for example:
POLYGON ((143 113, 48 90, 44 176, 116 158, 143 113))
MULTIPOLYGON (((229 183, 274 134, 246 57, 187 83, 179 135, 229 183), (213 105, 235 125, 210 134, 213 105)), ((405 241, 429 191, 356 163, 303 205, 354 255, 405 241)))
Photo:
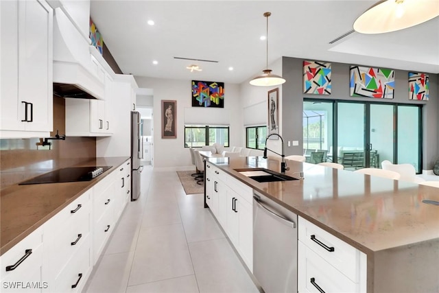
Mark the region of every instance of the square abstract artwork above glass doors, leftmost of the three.
POLYGON ((303 61, 303 93, 331 95, 331 63, 303 61))

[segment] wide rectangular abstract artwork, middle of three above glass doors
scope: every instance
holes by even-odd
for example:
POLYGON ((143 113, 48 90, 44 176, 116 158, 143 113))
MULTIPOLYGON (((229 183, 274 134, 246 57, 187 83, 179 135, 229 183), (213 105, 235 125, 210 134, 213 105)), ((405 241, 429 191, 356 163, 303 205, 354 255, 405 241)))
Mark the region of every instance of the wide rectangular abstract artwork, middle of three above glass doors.
POLYGON ((395 88, 394 70, 351 66, 349 73, 351 97, 393 99, 395 88))

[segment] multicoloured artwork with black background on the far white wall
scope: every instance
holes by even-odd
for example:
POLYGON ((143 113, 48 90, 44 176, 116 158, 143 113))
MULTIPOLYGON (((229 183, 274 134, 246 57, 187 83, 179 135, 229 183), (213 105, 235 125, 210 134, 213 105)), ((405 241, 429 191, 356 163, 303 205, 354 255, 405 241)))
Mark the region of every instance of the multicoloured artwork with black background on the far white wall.
POLYGON ((224 108, 224 82, 192 80, 192 106, 224 108))

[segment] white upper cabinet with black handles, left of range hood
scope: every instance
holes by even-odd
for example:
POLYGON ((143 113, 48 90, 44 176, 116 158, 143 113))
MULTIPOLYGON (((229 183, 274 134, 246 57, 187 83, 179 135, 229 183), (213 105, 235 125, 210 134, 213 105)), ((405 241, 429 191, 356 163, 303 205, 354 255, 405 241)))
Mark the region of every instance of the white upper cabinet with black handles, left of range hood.
POLYGON ((1 1, 0 137, 53 128, 53 10, 42 0, 1 1))

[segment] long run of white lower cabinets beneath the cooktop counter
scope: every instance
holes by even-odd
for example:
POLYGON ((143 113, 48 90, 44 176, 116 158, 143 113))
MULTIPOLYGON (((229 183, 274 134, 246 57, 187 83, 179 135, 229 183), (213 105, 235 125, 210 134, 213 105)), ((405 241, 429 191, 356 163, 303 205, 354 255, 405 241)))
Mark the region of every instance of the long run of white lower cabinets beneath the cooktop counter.
POLYGON ((130 160, 1 255, 1 292, 82 292, 130 198, 130 160))

